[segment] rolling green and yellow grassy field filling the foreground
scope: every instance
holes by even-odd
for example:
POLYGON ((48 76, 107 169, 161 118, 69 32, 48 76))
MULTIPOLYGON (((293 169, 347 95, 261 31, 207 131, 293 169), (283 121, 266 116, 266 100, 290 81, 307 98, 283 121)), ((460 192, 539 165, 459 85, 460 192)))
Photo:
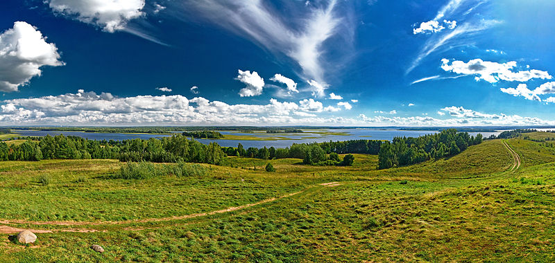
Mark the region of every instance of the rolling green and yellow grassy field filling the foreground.
POLYGON ((1 162, 0 262, 552 262, 555 151, 506 143, 513 172, 502 140, 388 170, 360 154, 140 180, 114 179, 114 160, 1 162))

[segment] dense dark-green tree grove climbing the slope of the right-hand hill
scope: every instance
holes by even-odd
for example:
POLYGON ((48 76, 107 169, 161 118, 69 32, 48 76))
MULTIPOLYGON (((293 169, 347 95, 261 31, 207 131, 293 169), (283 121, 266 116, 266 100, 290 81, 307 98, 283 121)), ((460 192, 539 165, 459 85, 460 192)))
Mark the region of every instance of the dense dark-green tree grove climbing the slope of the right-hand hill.
POLYGON ((477 145, 484 140, 481 134, 476 138, 468 132, 445 129, 437 134, 413 137, 395 137, 393 142, 384 142, 378 153, 379 169, 396 165, 422 163, 430 158, 453 156, 464 151, 470 145, 477 145))

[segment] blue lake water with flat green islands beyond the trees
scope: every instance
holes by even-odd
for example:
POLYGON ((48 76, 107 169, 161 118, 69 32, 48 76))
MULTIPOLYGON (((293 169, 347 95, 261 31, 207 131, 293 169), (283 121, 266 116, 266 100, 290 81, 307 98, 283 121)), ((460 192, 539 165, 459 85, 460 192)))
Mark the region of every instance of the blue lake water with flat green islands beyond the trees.
MULTIPOLYGON (((171 135, 160 135, 160 134, 105 134, 105 133, 94 133, 94 132, 82 132, 82 131, 28 131, 28 130, 14 130, 21 136, 56 136, 58 134, 64 134, 65 136, 79 136, 82 138, 87 138, 90 140, 127 140, 134 138, 148 139, 148 138, 161 138, 171 135)), ((237 147, 239 143, 243 147, 276 147, 284 148, 289 147, 293 143, 322 143, 325 141, 337 141, 337 140, 393 140, 394 137, 406 136, 406 137, 418 137, 426 134, 435 134, 438 131, 404 131, 399 129, 321 129, 318 131, 305 130, 302 134, 249 134, 249 133, 239 133, 237 131, 220 131, 221 134, 233 134, 233 135, 244 135, 244 136, 260 136, 260 137, 284 137, 287 140, 221 140, 221 139, 196 139, 200 143, 208 144, 211 142, 216 142, 221 146, 225 147, 237 147), (349 135, 330 135, 330 134, 318 134, 317 132, 330 131, 330 132, 344 132, 349 135), (309 137, 309 138, 307 138, 309 137)), ((500 132, 480 132, 484 138, 489 137, 494 134, 497 135, 500 132)), ((472 136, 479 134, 478 132, 470 132, 472 136)))

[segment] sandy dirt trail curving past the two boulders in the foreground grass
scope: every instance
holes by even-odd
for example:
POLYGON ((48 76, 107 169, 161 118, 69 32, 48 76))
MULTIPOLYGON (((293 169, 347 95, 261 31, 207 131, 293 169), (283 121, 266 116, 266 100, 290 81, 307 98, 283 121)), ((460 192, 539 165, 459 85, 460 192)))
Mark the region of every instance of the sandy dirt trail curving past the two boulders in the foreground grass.
MULTIPOLYGON (((329 185, 329 186, 335 186, 335 185, 339 185, 337 182, 333 182, 333 183, 329 183, 329 184, 323 184, 323 185, 329 185)), ((285 194, 282 195, 281 197, 273 197, 270 199, 264 199, 262 201, 258 201, 256 203, 248 203, 246 205, 243 206, 233 206, 230 208, 225 208, 222 210, 216 210, 216 211, 212 211, 212 212, 201 212, 201 213, 196 213, 196 214, 191 214, 191 215, 182 215, 182 216, 177 216, 177 217, 162 217, 162 218, 148 218, 148 219, 135 219, 135 220, 126 220, 126 221, 96 221, 96 222, 87 222, 87 221, 26 221, 26 220, 6 220, 6 219, 0 219, 0 224, 31 224, 31 225, 35 225, 35 226, 40 226, 40 225, 54 225, 54 226, 103 226, 103 225, 119 225, 119 224, 133 224, 133 223, 148 223, 148 222, 159 222, 159 221, 171 221, 171 220, 179 220, 179 219, 189 219, 189 218, 195 218, 195 217, 203 217, 203 216, 207 216, 207 215, 216 215, 216 214, 221 214, 224 212, 232 212, 235 210, 240 210, 240 209, 244 209, 244 208, 249 208, 251 206, 258 206, 261 205, 262 203, 269 203, 278 199, 283 199, 286 197, 291 197, 293 195, 296 194, 300 194, 302 192, 305 192, 306 190, 308 190, 309 188, 299 191, 299 192, 293 192, 291 194, 285 194)), ((131 229, 131 228, 126 228, 126 229, 131 229)), ((0 234, 12 234, 12 233, 18 233, 22 230, 26 230, 23 228, 13 228, 10 226, 3 226, 0 225, 0 234)), ((32 230, 32 229, 27 229, 27 230, 31 230, 31 232, 33 233, 53 233, 53 232, 80 232, 80 233, 89 233, 89 232, 99 232, 99 230, 94 230, 94 229, 59 229, 59 230, 32 230)), ((124 229, 125 230, 125 229, 124 229)), ((105 232, 105 231, 103 231, 105 232)))

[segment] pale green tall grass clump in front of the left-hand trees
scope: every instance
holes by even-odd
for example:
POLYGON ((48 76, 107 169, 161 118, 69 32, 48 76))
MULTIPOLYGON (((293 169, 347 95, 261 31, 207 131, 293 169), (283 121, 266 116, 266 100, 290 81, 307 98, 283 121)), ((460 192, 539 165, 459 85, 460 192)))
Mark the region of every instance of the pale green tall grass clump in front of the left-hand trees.
POLYGON ((129 162, 121 165, 119 172, 114 174, 117 179, 148 179, 160 176, 173 175, 176 177, 197 176, 208 174, 205 167, 199 164, 179 162, 177 164, 155 164, 149 162, 129 162))

